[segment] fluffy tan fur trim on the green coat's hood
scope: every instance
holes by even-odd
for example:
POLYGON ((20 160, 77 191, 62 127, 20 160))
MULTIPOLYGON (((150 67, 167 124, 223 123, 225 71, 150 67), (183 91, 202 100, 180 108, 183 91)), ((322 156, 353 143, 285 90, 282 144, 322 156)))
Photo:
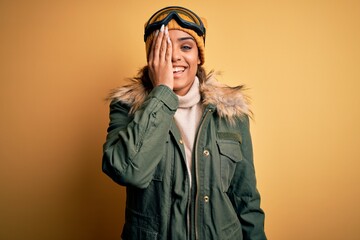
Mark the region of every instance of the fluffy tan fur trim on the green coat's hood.
MULTIPOLYGON (((201 101, 204 105, 213 105, 220 117, 230 122, 236 117, 252 115, 249 109, 249 98, 243 93, 244 86, 230 87, 216 80, 210 74, 206 81, 200 83, 201 101)), ((131 79, 125 86, 114 89, 110 95, 110 101, 121 101, 131 106, 130 113, 134 113, 145 101, 149 90, 146 89, 140 79, 131 79)))

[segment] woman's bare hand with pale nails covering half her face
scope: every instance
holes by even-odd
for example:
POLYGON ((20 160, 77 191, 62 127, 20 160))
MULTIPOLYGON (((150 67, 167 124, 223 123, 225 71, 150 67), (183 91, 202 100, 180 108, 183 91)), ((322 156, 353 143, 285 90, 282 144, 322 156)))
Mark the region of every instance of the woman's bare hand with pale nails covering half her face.
POLYGON ((149 77, 154 87, 159 85, 174 88, 174 75, 172 68, 172 44, 168 28, 161 26, 155 33, 149 55, 149 77))

